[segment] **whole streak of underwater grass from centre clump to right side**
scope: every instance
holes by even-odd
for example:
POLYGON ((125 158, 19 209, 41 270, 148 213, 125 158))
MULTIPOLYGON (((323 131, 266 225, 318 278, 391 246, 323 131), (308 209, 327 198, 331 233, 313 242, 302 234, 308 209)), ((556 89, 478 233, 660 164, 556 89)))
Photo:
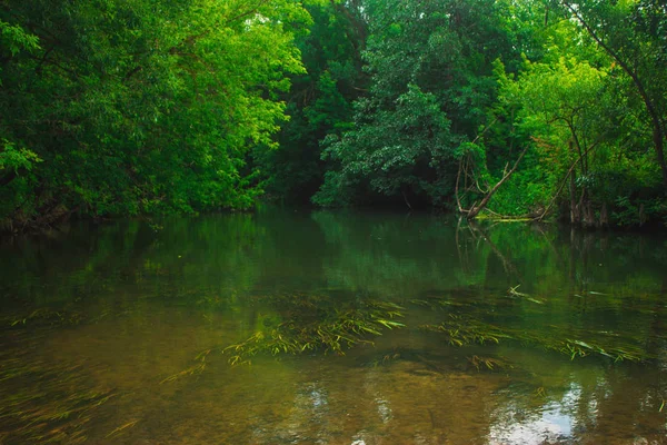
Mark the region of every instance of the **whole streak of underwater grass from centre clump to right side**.
MULTIPOLYGON (((418 328, 440 335, 445 343, 451 346, 511 342, 526 347, 554 350, 570 359, 589 355, 631 362, 649 358, 647 353, 628 345, 627 342, 623 344, 616 336, 600 338, 596 333, 577 332, 568 326, 488 323, 489 317, 511 317, 509 313, 499 310, 496 314, 496 310, 510 310, 524 301, 530 305, 530 310, 536 308, 544 312, 550 307, 544 298, 532 298, 517 289, 518 286, 511 287, 504 296, 469 287, 457 289, 456 293, 448 291, 444 296, 429 293, 419 298, 406 299, 406 307, 368 295, 344 291, 255 290, 250 293, 248 300, 259 309, 255 310, 255 329, 249 336, 228 346, 215 346, 205 350, 196 358, 195 365, 167 376, 161 383, 202 373, 207 367, 206 359, 212 350, 221 350, 231 365, 250 364, 251 358, 257 355, 298 355, 313 352, 344 355, 356 345, 372 344, 374 337, 382 335, 385 329, 405 328, 406 325, 398 319, 404 317, 409 310, 407 307, 410 306, 419 307, 421 312, 424 308, 430 309, 436 317, 445 318, 439 324, 422 325, 418 328), (459 291, 462 293, 462 297, 458 295, 459 291)), ((475 355, 468 359, 478 370, 510 367, 497 358, 475 355)))

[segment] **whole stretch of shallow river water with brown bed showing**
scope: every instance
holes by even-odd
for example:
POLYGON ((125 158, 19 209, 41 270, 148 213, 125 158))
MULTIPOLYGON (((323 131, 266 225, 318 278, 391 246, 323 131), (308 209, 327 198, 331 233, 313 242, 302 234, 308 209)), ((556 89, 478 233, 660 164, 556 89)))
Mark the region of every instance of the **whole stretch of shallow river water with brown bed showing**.
POLYGON ((389 212, 10 239, 0 444, 667 443, 666 270, 664 236, 389 212))

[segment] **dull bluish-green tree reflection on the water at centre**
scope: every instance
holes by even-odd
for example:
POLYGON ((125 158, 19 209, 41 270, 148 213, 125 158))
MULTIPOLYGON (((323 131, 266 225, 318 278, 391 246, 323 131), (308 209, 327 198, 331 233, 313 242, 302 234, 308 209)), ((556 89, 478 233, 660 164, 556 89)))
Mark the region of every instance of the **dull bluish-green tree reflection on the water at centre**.
MULTIPOLYGON (((378 295, 410 296, 479 283, 484 258, 461 267, 454 228, 435 217, 316 212, 327 244, 336 254, 325 258, 329 284, 378 295)), ((466 239, 466 243, 469 243, 466 239)))

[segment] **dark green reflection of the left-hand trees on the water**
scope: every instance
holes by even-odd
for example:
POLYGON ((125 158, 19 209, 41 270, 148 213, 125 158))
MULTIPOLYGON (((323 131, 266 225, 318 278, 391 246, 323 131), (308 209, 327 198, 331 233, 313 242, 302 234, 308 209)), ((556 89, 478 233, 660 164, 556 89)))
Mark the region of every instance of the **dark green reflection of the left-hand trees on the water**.
POLYGON ((80 225, 51 238, 4 246, 4 291, 26 314, 99 304, 98 314, 91 314, 99 316, 147 298, 219 303, 255 286, 258 258, 271 249, 266 229, 251 215, 173 218, 161 227, 80 225))

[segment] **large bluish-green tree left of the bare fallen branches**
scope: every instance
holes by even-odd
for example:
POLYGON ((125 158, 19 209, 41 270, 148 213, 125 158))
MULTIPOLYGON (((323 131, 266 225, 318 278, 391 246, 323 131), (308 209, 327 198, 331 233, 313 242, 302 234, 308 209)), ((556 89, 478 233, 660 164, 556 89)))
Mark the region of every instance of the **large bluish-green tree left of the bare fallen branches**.
POLYGON ((334 166, 313 197, 331 206, 369 197, 447 204, 455 150, 486 122, 492 60, 511 52, 492 1, 367 1, 364 58, 371 86, 355 106, 355 128, 330 137, 334 166))

